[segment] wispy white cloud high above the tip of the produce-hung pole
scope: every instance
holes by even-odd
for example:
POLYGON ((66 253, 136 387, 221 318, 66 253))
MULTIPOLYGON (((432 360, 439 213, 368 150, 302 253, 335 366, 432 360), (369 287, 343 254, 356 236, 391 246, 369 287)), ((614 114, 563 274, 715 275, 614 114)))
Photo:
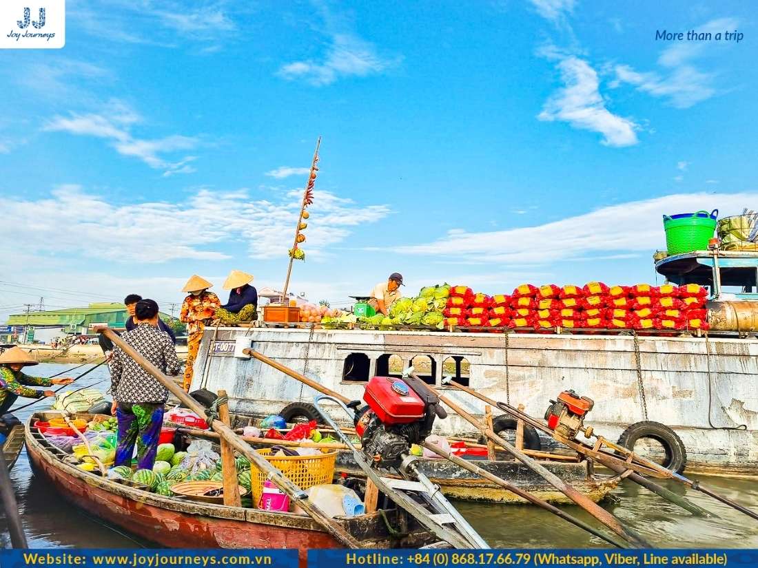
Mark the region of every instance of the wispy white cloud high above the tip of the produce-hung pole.
POLYGON ((346 33, 331 36, 323 61, 293 61, 280 67, 287 80, 303 79, 315 86, 334 83, 342 77, 381 73, 399 62, 377 55, 371 43, 346 33))

